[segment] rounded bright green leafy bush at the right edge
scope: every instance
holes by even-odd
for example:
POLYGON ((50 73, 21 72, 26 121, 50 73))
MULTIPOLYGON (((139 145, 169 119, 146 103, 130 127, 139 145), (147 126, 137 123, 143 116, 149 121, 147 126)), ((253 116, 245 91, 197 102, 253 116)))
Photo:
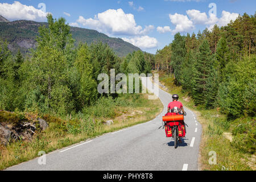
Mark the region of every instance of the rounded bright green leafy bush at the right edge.
POLYGON ((229 117, 238 118, 241 115, 255 115, 255 60, 251 59, 229 63, 226 67, 224 82, 218 90, 218 103, 229 117))

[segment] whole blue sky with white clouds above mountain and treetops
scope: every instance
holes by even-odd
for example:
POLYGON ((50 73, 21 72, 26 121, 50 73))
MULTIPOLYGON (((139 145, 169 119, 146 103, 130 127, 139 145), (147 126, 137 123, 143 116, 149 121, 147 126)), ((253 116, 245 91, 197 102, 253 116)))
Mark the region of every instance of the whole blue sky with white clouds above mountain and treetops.
POLYGON ((171 43, 176 32, 197 34, 214 24, 224 26, 238 14, 253 15, 255 7, 255 0, 1 0, 0 15, 44 22, 46 13, 52 13, 72 26, 98 30, 155 53, 171 43))

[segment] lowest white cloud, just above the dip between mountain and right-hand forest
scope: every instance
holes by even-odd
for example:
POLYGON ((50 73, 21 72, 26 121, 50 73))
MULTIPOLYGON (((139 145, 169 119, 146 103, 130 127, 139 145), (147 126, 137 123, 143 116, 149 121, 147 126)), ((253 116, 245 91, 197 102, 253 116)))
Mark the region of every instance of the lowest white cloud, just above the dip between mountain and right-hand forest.
POLYGON ((129 42, 133 44, 134 46, 137 46, 141 49, 151 49, 158 47, 158 40, 155 38, 151 38, 149 36, 137 36, 135 38, 122 38, 124 41, 129 42))

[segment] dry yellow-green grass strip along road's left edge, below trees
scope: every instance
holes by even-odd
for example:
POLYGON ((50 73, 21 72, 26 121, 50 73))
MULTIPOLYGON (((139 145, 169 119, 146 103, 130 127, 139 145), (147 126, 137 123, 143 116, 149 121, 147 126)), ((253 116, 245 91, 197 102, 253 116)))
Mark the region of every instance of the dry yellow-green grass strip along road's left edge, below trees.
POLYGON ((102 98, 96 105, 88 108, 87 113, 73 116, 26 114, 28 118, 36 115, 45 119, 49 127, 45 131, 36 131, 32 141, 19 140, 6 147, 0 146, 0 170, 34 159, 38 157, 39 151, 47 154, 105 133, 150 121, 163 110, 163 105, 160 100, 148 100, 147 96, 148 94, 124 94, 114 101, 112 98, 102 98), (105 104, 107 114, 97 113, 98 109, 102 109, 102 104, 105 104), (122 118, 134 109, 143 111, 143 114, 136 113, 122 118), (104 125, 104 121, 109 119, 113 119, 113 125, 104 125))

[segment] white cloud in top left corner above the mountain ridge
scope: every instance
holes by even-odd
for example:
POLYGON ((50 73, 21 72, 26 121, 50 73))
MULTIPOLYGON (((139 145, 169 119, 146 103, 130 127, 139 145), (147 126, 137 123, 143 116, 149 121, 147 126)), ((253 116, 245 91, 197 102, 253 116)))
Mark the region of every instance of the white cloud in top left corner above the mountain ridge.
POLYGON ((18 1, 14 1, 13 4, 0 3, 0 14, 7 19, 26 19, 34 21, 46 20, 46 15, 42 10, 36 9, 34 6, 22 5, 18 1))

